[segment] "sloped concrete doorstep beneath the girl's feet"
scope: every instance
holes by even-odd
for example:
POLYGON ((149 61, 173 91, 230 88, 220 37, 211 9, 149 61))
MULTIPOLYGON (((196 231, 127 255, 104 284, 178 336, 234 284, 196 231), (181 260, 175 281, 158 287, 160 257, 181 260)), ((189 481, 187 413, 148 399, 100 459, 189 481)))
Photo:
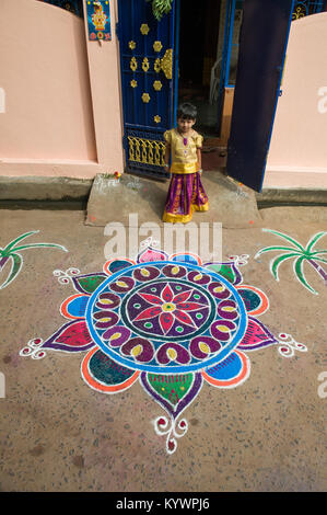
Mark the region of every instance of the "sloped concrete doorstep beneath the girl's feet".
MULTIPOLYGON (((202 183, 209 196, 209 211, 195 213, 192 221, 222 222, 225 228, 252 228, 261 225, 255 192, 221 172, 203 172, 202 183)), ((153 221, 163 226, 162 214, 168 182, 159 183, 124 174, 120 179, 96 175, 89 197, 85 225, 106 226, 119 221, 127 226, 130 214, 138 224, 153 221)))

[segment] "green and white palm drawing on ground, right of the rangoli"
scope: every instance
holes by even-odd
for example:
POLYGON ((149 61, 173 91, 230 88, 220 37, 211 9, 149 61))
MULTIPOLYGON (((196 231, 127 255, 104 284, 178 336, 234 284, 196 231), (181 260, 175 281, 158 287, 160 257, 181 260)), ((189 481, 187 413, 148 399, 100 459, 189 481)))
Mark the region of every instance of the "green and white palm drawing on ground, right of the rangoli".
POLYGON ((294 238, 291 238, 288 234, 284 234, 283 232, 275 231, 272 229, 262 229, 265 232, 271 232, 272 234, 276 234, 284 240, 287 240, 289 243, 291 243, 292 247, 266 247, 265 249, 259 250, 256 255, 255 260, 264 254, 264 252, 270 252, 270 251, 283 251, 282 254, 279 254, 277 258, 270 261, 270 272, 272 273, 273 277, 276 281, 279 281, 278 276, 278 268, 281 263, 283 263, 287 260, 294 259, 293 263, 293 270, 296 278, 307 288, 310 291, 312 291, 315 295, 318 295, 317 291, 310 286, 307 283, 304 272, 303 272, 303 266, 304 263, 307 262, 310 263, 315 271, 319 274, 319 276, 323 278, 325 282, 325 285, 327 285, 327 273, 326 271, 320 266, 319 263, 327 263, 327 260, 324 260, 322 258, 322 254, 327 254, 327 250, 319 250, 316 249, 314 250, 315 244, 317 241, 323 238, 323 236, 326 236, 327 232, 317 232, 314 234, 311 240, 308 241, 306 248, 304 248, 299 241, 294 240, 294 238))

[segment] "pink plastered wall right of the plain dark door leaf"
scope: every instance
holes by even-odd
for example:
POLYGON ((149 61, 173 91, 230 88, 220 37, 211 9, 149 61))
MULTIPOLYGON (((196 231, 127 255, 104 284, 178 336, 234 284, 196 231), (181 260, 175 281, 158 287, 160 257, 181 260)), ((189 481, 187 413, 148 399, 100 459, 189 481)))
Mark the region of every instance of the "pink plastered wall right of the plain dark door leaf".
POLYGON ((327 13, 291 24, 264 187, 327 187, 327 13))

